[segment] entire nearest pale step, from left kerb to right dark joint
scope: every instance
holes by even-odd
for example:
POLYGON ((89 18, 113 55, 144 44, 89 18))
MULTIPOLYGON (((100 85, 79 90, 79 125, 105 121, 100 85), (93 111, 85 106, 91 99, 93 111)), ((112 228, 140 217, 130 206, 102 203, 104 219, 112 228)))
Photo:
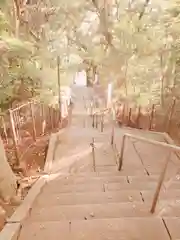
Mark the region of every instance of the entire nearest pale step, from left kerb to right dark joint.
POLYGON ((94 219, 64 221, 47 221, 26 223, 19 240, 169 240, 163 222, 159 218, 133 219, 94 219), (153 231, 152 231, 153 229, 153 231))

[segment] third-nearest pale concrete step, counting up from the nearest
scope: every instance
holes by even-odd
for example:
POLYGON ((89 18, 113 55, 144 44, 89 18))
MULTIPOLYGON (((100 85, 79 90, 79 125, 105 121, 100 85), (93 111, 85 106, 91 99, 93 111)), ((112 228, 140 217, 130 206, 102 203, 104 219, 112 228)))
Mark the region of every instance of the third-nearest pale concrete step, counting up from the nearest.
POLYGON ((140 191, 121 190, 109 192, 55 193, 49 198, 41 194, 35 204, 38 206, 100 204, 113 202, 142 202, 140 191))

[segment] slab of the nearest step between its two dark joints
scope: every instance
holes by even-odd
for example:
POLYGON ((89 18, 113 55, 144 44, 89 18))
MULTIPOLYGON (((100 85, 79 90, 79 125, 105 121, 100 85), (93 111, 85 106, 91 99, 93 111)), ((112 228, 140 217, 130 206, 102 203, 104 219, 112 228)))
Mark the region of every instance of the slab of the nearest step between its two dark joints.
POLYGON ((71 234, 75 240, 169 240, 160 219, 146 218, 76 221, 71 234))

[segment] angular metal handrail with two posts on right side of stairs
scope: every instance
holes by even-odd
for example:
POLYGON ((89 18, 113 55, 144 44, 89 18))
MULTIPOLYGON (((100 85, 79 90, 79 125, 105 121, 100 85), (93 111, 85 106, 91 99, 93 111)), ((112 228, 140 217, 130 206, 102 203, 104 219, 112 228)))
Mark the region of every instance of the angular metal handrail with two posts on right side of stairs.
POLYGON ((154 197, 153 197, 153 201, 152 201, 152 205, 151 205, 151 209, 150 209, 150 212, 154 213, 155 209, 156 209, 157 201, 158 201, 158 198, 159 198, 159 194, 160 194, 160 191, 161 191, 161 187, 162 187, 165 175, 166 175, 166 170, 167 170, 167 167, 168 167, 168 163, 170 161, 170 155, 171 155, 172 151, 173 152, 174 151, 175 152, 177 152, 177 151, 180 152, 180 147, 175 146, 175 145, 171 145, 171 144, 168 144, 168 143, 164 143, 164 142, 158 142, 158 141, 155 141, 155 140, 150 140, 150 139, 140 137, 140 136, 136 136, 136 135, 133 135, 133 134, 124 133, 123 137, 122 137, 121 150, 120 150, 120 154, 119 154, 119 165, 118 165, 118 170, 119 171, 121 171, 122 166, 123 166, 123 156, 124 156, 126 138, 136 139, 136 140, 139 140, 141 142, 146 142, 146 143, 149 143, 149 144, 152 144, 152 145, 155 145, 155 146, 159 146, 159 147, 162 147, 162 148, 166 148, 166 149, 169 150, 168 157, 166 158, 166 161, 165 161, 164 166, 163 166, 163 170, 162 170, 162 172, 159 176, 158 184, 157 184, 157 187, 156 187, 156 190, 155 190, 155 193, 154 193, 154 197))

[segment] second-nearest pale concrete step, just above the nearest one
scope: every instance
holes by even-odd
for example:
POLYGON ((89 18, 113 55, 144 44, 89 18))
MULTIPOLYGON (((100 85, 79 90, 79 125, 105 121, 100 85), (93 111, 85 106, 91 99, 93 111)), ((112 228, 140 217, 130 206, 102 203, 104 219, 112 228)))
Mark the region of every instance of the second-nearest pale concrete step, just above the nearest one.
POLYGON ((97 218, 153 217, 150 204, 140 202, 60 205, 40 207, 34 205, 30 221, 87 220, 97 218))

